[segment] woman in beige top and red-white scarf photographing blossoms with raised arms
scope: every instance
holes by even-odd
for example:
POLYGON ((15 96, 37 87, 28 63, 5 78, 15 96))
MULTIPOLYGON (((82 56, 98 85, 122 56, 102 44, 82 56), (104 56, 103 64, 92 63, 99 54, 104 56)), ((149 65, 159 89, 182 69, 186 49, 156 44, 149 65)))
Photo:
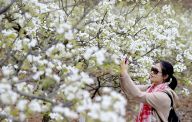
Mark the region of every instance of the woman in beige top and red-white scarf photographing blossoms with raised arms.
POLYGON ((173 76, 173 66, 166 61, 156 63, 150 72, 151 85, 142 86, 135 85, 127 69, 128 63, 123 60, 120 64, 121 88, 127 96, 131 94, 141 102, 136 122, 168 122, 171 99, 166 93, 171 95, 174 106, 178 99, 173 91, 177 86, 177 79, 173 76))

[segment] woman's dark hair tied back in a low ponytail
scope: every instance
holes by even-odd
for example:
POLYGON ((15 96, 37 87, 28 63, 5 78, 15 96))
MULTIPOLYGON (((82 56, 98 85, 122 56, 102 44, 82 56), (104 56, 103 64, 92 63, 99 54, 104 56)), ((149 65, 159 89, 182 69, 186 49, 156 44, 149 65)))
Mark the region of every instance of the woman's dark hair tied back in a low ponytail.
POLYGON ((175 76, 173 76, 174 71, 173 71, 172 64, 167 61, 160 61, 160 64, 161 64, 162 74, 164 76, 168 75, 168 78, 164 82, 170 82, 169 87, 174 90, 177 87, 177 79, 175 78, 175 76))

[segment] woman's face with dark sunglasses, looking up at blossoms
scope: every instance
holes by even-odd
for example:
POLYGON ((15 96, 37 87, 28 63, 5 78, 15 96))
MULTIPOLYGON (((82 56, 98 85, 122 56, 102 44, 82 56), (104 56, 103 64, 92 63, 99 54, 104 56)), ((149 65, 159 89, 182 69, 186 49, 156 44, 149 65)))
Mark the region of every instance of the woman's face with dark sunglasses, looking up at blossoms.
POLYGON ((151 82, 155 84, 160 84, 164 81, 160 63, 157 63, 151 67, 149 78, 151 82))

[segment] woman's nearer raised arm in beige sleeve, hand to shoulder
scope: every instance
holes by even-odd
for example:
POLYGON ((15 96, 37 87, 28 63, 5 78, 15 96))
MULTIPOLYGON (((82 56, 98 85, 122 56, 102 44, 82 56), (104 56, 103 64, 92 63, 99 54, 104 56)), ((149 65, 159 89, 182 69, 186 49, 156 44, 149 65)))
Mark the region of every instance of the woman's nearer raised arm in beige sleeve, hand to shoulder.
POLYGON ((169 106, 170 101, 165 93, 163 92, 147 93, 145 91, 141 91, 140 88, 147 87, 147 85, 145 86, 135 85, 135 83, 129 76, 127 70, 128 70, 128 64, 125 64, 124 61, 122 61, 120 64, 120 86, 125 95, 129 96, 128 94, 130 94, 133 97, 135 97, 135 99, 137 99, 138 101, 148 103, 154 108, 169 106))

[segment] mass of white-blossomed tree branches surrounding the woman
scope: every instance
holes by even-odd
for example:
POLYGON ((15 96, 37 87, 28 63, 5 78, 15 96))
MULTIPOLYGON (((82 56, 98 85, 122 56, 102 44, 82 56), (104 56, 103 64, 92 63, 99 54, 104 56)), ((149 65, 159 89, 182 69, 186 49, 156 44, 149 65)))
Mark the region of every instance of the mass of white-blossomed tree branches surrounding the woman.
MULTIPOLYGON (((119 61, 147 82, 155 60, 192 60, 190 11, 170 1, 0 0, 0 119, 125 121, 119 61), (187 30, 185 30, 187 28, 187 30)), ((191 83, 190 76, 182 79, 191 83)), ((129 104, 129 103, 128 103, 129 104)))

